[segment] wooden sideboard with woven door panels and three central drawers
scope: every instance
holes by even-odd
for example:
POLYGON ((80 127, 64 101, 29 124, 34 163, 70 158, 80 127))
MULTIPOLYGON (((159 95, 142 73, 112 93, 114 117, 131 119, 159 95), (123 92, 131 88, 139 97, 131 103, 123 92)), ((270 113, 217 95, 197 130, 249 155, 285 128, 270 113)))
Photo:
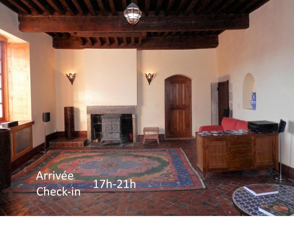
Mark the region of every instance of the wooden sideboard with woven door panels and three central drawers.
MULTIPOLYGON (((221 133, 218 133, 221 134, 221 133)), ((197 166, 203 172, 275 168, 278 172, 278 133, 201 136, 196 132, 197 166)))

